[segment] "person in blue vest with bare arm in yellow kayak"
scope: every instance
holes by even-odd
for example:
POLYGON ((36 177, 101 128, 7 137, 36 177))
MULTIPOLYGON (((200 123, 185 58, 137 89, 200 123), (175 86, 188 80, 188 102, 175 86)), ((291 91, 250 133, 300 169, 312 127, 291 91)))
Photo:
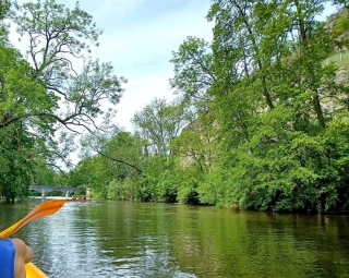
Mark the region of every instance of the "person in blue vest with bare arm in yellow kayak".
MULTIPOLYGON (((0 239, 0 274, 3 278, 25 278, 25 266, 34 253, 20 239, 0 239)), ((48 278, 48 277, 47 277, 48 278)))

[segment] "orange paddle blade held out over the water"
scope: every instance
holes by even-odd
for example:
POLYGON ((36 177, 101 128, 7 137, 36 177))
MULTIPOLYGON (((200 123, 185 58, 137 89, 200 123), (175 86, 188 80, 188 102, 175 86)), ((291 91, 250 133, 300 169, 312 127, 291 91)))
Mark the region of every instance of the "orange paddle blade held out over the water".
POLYGON ((64 205, 64 203, 65 203, 65 200, 52 200, 38 205, 29 214, 27 214, 23 219, 12 225, 4 231, 0 232, 0 238, 8 238, 11 234, 15 233, 24 225, 27 225, 28 222, 32 222, 37 218, 55 214, 64 205))

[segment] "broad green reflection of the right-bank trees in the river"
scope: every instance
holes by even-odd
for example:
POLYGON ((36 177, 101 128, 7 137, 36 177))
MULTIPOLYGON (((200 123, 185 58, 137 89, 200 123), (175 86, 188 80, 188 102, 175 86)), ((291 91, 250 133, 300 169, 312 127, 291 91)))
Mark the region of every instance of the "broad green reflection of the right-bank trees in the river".
POLYGON ((198 277, 340 277, 349 270, 349 242, 340 240, 348 237, 348 217, 178 210, 172 254, 180 269, 198 277))

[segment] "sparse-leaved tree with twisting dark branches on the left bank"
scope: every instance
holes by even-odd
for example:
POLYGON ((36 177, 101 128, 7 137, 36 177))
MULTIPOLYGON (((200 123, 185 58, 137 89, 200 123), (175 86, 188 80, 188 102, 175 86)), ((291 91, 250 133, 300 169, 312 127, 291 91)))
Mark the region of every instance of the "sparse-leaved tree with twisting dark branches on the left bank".
POLYGON ((105 112, 100 101, 118 104, 124 80, 112 75, 110 63, 84 58, 84 51, 91 51, 88 41, 97 45, 101 34, 92 16, 77 4, 71 11, 47 0, 17 7, 11 19, 17 24, 17 32, 29 38, 27 55, 34 67, 27 69, 26 74, 19 74, 27 76, 36 89, 26 85, 15 93, 11 90, 16 94, 16 109, 4 112, 2 126, 25 119, 36 135, 45 134, 52 146, 58 145, 53 137, 60 128, 75 133, 97 128, 94 119, 105 112), (84 62, 81 73, 74 70, 79 59, 84 62), (31 105, 29 109, 20 110, 17 107, 23 107, 21 104, 25 101, 31 105))

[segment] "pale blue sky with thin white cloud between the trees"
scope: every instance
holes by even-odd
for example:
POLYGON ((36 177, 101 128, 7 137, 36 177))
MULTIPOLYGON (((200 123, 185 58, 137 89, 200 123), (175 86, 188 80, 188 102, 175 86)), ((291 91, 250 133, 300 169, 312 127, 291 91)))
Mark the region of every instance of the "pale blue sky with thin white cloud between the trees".
MULTIPOLYGON (((56 2, 69 8, 75 4, 72 0, 56 2)), ((174 98, 169 86, 173 77, 169 62, 172 51, 177 51, 188 36, 212 40, 213 24, 205 19, 209 7, 210 0, 80 1, 80 8, 104 29, 100 46, 92 48, 92 57, 111 62, 113 74, 128 80, 117 106, 119 126, 131 132, 135 112, 156 97, 169 101, 174 98)))

